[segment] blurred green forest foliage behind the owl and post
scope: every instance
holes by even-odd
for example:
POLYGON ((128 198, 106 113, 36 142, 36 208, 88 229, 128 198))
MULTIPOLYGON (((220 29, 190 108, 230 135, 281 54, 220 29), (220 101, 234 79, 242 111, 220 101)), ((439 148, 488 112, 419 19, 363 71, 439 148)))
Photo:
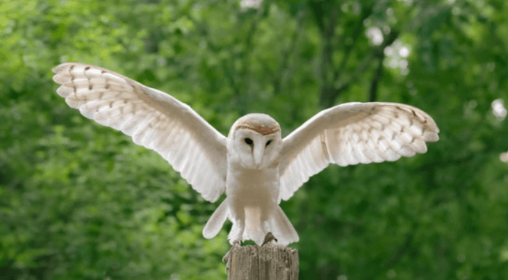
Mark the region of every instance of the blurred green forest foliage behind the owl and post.
MULTIPOLYGON (((410 104, 441 140, 394 163, 330 166, 284 209, 300 279, 507 279, 505 0, 3 0, 0 279, 226 279, 227 232, 154 151, 56 94, 51 68, 112 69, 227 134, 283 136, 350 101, 410 104)), ((222 199, 221 199, 222 200, 222 199)))

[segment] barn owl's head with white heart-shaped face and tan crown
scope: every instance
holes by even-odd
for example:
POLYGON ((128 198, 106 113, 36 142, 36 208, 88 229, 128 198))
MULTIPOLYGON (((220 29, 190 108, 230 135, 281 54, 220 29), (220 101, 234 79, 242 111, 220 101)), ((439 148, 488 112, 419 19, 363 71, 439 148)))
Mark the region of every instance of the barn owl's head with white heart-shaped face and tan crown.
POLYGON ((244 168, 261 170, 276 163, 281 149, 281 127, 269 115, 245 115, 229 131, 228 160, 244 168))

